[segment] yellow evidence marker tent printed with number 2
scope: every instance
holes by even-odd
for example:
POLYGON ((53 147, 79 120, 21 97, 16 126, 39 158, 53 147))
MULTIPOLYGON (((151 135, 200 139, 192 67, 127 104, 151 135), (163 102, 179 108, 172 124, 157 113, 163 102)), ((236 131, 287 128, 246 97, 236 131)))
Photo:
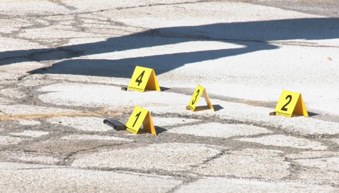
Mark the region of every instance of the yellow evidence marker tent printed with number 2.
POLYGON ((291 117, 292 114, 308 117, 308 113, 306 111, 305 104, 303 103, 301 94, 287 90, 282 90, 274 112, 277 115, 286 117, 291 117))

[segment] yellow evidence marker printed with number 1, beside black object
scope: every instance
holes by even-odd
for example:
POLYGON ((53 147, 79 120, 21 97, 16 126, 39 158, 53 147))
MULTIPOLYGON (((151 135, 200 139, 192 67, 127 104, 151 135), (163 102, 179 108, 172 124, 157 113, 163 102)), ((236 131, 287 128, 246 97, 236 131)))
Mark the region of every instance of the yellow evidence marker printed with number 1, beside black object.
POLYGON ((139 106, 135 106, 132 114, 130 115, 127 121, 126 130, 133 134, 137 134, 141 127, 141 124, 143 125, 143 129, 145 131, 153 135, 156 135, 156 131, 154 129, 152 118, 150 117, 149 111, 139 106))

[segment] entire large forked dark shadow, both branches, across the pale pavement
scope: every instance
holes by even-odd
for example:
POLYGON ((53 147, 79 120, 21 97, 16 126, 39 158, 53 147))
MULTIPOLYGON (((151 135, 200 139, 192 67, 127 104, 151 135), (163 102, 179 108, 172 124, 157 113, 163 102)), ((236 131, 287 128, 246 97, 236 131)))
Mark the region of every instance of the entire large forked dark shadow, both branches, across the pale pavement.
MULTIPOLYGON (((269 41, 333 38, 339 38, 339 18, 298 18, 164 27, 112 37, 94 43, 67 45, 58 48, 2 51, 0 52, 0 65, 12 63, 12 58, 15 58, 15 62, 58 60, 190 41, 221 41, 242 45, 240 48, 181 52, 115 60, 71 59, 55 63, 52 68, 42 71, 42 73, 52 74, 130 78, 135 65, 153 68, 155 74, 158 75, 189 63, 279 48, 269 44, 269 41)), ((311 42, 304 42, 304 44, 317 45, 311 42)), ((225 64, 225 70, 226 68, 227 64, 225 64)), ((34 72, 36 73, 36 70, 34 72)))

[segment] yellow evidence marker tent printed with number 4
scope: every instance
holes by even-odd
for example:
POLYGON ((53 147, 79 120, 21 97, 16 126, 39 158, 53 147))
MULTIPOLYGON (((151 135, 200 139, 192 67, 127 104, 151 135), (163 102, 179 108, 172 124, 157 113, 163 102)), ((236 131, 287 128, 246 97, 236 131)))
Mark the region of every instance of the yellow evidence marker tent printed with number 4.
POLYGON ((140 92, 143 92, 145 89, 161 91, 154 70, 140 66, 135 66, 128 89, 140 92))

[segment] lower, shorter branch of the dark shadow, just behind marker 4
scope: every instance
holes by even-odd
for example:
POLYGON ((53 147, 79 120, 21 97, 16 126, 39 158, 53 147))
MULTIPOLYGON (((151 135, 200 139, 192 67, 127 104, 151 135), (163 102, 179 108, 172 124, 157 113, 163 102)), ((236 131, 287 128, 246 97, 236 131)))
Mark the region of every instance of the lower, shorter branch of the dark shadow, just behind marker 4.
MULTIPOLYGON (((207 50, 176 54, 153 55, 136 58, 124 58, 117 60, 107 59, 70 59, 57 62, 52 67, 40 71, 41 74, 73 74, 104 76, 117 78, 130 78, 138 66, 154 69, 155 76, 181 67, 188 63, 213 60, 226 56, 234 56, 257 49, 275 49, 276 46, 268 44, 244 43, 245 48, 207 50)), ((41 68, 43 70, 43 68, 41 68)), ((28 73, 36 73, 37 70, 28 73)))

